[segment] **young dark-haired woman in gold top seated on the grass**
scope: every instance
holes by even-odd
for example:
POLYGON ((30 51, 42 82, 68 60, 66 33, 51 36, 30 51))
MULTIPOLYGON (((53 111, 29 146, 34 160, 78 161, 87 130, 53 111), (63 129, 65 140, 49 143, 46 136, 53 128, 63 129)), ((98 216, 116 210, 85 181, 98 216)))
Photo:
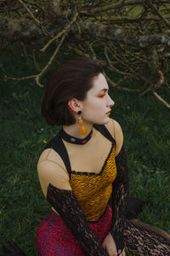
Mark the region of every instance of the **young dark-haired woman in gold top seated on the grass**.
POLYGON ((52 209, 37 230, 38 255, 169 255, 170 242, 126 217, 128 175, 122 129, 102 68, 77 58, 48 80, 42 115, 62 125, 37 164, 52 209))

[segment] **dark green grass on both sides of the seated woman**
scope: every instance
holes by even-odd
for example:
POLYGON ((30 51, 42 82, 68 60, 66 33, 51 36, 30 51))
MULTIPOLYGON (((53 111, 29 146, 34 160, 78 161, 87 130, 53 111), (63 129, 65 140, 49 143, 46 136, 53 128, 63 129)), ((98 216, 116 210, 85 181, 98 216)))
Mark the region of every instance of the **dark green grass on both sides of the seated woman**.
MULTIPOLYGON (((3 55, 2 63, 10 76, 35 73, 19 55, 3 55)), ((37 177, 37 160, 43 140, 59 131, 41 117, 42 93, 32 80, 1 79, 0 241, 13 239, 29 256, 37 255, 37 225, 49 210, 37 177)), ((169 111, 152 96, 112 89, 110 94, 116 102, 111 117, 122 125, 124 134, 130 195, 145 202, 139 218, 170 232, 169 111)))

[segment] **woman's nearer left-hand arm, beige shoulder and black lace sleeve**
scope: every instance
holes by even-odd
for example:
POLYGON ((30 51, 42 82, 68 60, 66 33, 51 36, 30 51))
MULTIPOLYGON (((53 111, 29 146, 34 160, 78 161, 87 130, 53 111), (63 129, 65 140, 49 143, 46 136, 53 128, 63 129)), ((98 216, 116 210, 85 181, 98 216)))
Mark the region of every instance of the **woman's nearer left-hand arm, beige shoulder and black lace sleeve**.
POLYGON ((54 160, 39 161, 37 169, 44 195, 67 224, 85 255, 108 256, 97 236, 88 225, 82 207, 71 190, 69 176, 54 160))

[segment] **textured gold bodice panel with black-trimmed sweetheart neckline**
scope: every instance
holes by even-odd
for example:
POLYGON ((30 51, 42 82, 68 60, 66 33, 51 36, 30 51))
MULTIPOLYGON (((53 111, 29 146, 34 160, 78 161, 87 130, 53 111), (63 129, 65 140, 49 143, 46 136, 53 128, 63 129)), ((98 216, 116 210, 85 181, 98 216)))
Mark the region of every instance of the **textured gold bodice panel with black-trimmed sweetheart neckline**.
POLYGON ((88 221, 98 221, 105 213, 116 178, 115 145, 99 173, 72 172, 71 189, 88 221))

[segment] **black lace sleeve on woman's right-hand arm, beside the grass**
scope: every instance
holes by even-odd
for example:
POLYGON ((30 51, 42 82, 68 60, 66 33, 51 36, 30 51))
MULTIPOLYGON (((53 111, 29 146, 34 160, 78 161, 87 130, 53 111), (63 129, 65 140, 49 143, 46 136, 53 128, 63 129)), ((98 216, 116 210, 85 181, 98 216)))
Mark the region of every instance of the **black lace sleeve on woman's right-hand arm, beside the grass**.
POLYGON ((124 248, 124 219, 127 211, 128 198, 128 170, 127 158, 122 145, 119 154, 116 155, 116 180, 113 183, 113 192, 111 195, 111 206, 113 211, 113 218, 111 224, 111 235, 116 242, 117 252, 122 252, 124 248))

